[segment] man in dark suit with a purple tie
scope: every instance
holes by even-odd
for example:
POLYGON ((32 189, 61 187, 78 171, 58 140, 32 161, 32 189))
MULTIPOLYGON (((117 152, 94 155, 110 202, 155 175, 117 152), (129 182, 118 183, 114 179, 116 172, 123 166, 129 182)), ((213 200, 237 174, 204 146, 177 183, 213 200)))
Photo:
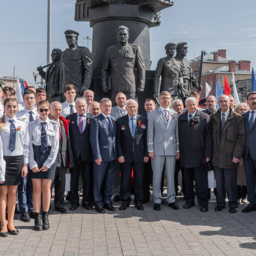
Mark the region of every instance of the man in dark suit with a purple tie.
POLYGON ((75 107, 77 113, 66 117, 69 119, 70 133, 70 159, 71 164, 71 191, 70 191, 70 210, 75 210, 79 206, 78 181, 80 173, 83 180, 83 199, 82 207, 92 210, 93 203, 93 170, 90 146, 90 123, 91 118, 86 115, 86 101, 78 98, 75 107))

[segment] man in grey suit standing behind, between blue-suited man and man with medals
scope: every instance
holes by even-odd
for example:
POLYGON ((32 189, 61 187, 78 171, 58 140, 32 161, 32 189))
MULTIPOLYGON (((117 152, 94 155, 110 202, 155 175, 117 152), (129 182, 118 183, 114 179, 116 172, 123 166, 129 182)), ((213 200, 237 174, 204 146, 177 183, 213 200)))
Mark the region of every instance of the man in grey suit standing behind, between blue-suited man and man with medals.
MULTIPOLYGON (((125 103, 127 101, 126 95, 123 92, 119 92, 116 94, 115 102, 117 106, 111 108, 110 115, 115 117, 116 119, 127 115, 127 111, 125 109, 125 103)), ((115 180, 114 180, 114 187, 113 187, 113 201, 119 202, 120 201, 120 163, 116 160, 116 167, 115 167, 115 180)))

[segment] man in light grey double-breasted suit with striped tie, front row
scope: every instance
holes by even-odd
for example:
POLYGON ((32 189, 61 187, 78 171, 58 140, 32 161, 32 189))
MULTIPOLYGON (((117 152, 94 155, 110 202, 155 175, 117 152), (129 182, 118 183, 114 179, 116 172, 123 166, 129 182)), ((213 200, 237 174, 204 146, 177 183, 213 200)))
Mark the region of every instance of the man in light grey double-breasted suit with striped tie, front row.
POLYGON ((147 147, 153 169, 154 210, 159 211, 162 202, 161 178, 163 168, 167 176, 167 202, 172 209, 178 210, 175 203, 174 171, 175 158, 179 159, 178 114, 170 109, 171 95, 160 93, 161 106, 148 113, 147 147))

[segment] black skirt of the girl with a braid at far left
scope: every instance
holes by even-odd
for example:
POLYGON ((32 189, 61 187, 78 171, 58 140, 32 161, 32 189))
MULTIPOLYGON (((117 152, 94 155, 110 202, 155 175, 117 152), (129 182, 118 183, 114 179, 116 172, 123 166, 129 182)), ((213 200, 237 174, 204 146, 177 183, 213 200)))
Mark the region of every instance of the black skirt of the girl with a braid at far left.
POLYGON ((23 155, 21 156, 4 156, 6 162, 5 182, 0 186, 19 185, 21 180, 21 169, 23 167, 23 155))

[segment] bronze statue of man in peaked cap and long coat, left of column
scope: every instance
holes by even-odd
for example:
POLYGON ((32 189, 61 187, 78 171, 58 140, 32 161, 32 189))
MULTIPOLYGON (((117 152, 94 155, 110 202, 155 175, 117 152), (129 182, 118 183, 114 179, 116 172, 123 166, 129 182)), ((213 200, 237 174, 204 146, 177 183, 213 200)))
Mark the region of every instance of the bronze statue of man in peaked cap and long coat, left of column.
POLYGON ((73 29, 64 32, 68 49, 61 54, 60 84, 62 92, 66 85, 76 86, 76 97, 82 97, 85 90, 89 89, 93 80, 93 59, 90 50, 84 46, 78 46, 79 33, 73 29))

